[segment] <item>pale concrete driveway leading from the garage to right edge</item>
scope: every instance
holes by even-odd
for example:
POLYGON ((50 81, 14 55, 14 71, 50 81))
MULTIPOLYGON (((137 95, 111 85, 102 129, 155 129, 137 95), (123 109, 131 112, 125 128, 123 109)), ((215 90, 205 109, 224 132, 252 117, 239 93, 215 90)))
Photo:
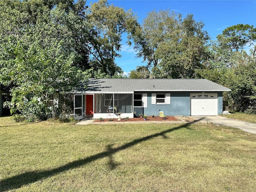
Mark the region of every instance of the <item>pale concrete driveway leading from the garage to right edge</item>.
POLYGON ((242 129, 248 133, 256 134, 256 124, 230 119, 222 116, 191 116, 198 122, 210 122, 216 125, 223 125, 242 129))

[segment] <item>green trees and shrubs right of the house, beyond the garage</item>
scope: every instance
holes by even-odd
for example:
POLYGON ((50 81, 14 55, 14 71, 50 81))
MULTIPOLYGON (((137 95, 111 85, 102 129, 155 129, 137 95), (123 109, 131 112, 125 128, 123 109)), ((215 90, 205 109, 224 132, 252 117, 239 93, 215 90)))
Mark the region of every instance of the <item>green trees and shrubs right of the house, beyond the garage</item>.
MULTIPOLYGON (((231 89, 224 93, 232 110, 256 112, 256 58, 243 50, 245 43, 253 43, 247 32, 253 26, 236 25, 224 30, 216 42, 212 42, 210 57, 204 68, 196 70, 198 78, 207 78, 231 89)), ((252 37, 252 36, 251 36, 252 37)))

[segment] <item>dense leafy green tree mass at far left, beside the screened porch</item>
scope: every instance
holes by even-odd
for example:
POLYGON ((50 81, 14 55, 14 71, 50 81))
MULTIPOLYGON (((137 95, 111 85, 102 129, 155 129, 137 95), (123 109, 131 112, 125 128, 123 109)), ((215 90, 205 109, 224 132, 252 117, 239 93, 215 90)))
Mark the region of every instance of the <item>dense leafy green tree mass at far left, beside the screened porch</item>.
POLYGON ((0 83, 12 85, 12 112, 47 118, 50 96, 88 79, 82 10, 82 1, 0 2, 0 83))

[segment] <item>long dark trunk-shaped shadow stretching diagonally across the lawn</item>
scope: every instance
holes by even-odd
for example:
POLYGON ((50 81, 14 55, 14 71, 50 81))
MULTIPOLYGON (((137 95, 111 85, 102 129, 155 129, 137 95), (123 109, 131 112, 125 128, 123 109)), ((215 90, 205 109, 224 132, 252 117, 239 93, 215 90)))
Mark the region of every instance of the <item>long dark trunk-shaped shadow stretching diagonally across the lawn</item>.
POLYGON ((111 145, 108 145, 107 148, 106 148, 106 151, 104 151, 104 152, 92 155, 92 156, 84 158, 84 159, 80 159, 80 160, 70 162, 70 163, 68 163, 64 166, 60 166, 60 167, 54 168, 52 170, 30 171, 30 172, 25 172, 25 173, 22 173, 22 174, 18 174, 16 176, 12 176, 10 178, 6 178, 4 180, 1 180, 0 191, 7 191, 7 190, 11 190, 11 189, 17 189, 17 188, 20 188, 23 185, 27 185, 27 184, 36 182, 36 181, 44 179, 44 178, 54 176, 56 174, 59 174, 61 172, 66 171, 66 170, 77 168, 79 166, 82 166, 84 164, 93 162, 97 159, 101 159, 101 158, 104 158, 104 157, 109 157, 109 166, 113 170, 114 168, 116 168, 116 166, 118 166, 118 164, 114 163, 114 160, 113 160, 113 157, 112 157, 112 155, 115 154, 116 152, 118 152, 120 150, 124 150, 124 149, 129 148, 129 147, 132 147, 132 146, 134 146, 134 145, 136 145, 140 142, 147 141, 147 140, 150 140, 152 138, 156 138, 158 136, 162 136, 164 138, 167 138, 165 136, 166 133, 169 133, 169 132, 181 129, 181 128, 190 129, 190 128, 188 128, 188 126, 190 124, 194 124, 194 123, 196 123, 196 122, 198 122, 202 119, 204 119, 204 118, 200 118, 198 120, 194 120, 193 122, 189 122, 185 125, 182 124, 182 125, 180 125, 178 127, 175 127, 175 128, 171 128, 171 129, 168 129, 168 130, 156 133, 156 134, 152 134, 152 135, 140 138, 140 139, 133 140, 131 142, 128 142, 128 143, 126 143, 122 146, 116 147, 116 148, 112 148, 111 145))

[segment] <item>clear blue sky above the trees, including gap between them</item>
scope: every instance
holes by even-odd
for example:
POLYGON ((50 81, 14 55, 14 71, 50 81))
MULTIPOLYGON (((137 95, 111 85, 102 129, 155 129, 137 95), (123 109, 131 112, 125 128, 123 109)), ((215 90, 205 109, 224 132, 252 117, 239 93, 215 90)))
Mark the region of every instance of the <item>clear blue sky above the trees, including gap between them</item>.
MULTIPOLYGON (((88 4, 90 2, 97 1, 87 1, 88 4)), ((206 30, 213 40, 229 26, 249 24, 256 27, 255 0, 108 0, 108 3, 124 10, 132 9, 140 24, 152 10, 170 9, 184 17, 193 14, 196 21, 204 22, 203 30, 206 30)), ((125 37, 120 54, 122 58, 117 58, 116 63, 124 74, 136 69, 136 66, 146 65, 142 58, 135 58, 136 52, 126 44, 125 37)))

